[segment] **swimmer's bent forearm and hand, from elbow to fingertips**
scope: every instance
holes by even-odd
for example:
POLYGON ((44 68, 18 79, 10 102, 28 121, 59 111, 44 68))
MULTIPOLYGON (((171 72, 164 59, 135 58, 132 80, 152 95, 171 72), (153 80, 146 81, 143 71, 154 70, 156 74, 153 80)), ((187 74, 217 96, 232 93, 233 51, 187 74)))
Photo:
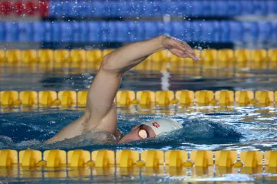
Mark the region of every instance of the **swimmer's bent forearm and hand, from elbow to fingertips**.
POLYGON ((102 65, 111 72, 124 73, 149 55, 165 49, 179 57, 190 57, 197 61, 193 49, 186 42, 168 36, 160 36, 118 48, 105 56, 102 65))

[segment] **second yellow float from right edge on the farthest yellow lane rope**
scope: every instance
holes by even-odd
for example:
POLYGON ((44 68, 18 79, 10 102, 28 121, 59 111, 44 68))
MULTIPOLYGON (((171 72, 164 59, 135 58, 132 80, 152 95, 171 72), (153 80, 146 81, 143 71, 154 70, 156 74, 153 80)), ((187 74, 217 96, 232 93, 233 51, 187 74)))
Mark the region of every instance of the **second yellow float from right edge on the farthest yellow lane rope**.
POLYGON ((267 50, 251 50, 251 68, 265 69, 268 66, 269 59, 267 50))

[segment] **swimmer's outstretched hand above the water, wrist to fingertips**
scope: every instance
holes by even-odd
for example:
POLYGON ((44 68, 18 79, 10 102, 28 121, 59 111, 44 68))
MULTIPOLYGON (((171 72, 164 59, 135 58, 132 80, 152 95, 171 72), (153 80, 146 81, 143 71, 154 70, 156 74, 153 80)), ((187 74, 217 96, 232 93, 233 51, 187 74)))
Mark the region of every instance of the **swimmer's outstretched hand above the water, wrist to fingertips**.
POLYGON ((178 57, 190 57, 195 62, 199 59, 195 56, 193 48, 191 48, 186 42, 173 37, 163 36, 162 45, 164 48, 170 50, 170 52, 178 57))

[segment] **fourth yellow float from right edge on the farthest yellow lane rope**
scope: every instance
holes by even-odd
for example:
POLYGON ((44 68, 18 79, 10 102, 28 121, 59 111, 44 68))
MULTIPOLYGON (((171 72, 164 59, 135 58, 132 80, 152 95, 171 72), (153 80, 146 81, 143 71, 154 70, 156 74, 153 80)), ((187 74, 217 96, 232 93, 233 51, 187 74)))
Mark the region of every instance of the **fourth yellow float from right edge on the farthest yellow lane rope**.
POLYGON ((217 61, 220 67, 233 67, 235 65, 235 53, 233 49, 218 50, 217 61))

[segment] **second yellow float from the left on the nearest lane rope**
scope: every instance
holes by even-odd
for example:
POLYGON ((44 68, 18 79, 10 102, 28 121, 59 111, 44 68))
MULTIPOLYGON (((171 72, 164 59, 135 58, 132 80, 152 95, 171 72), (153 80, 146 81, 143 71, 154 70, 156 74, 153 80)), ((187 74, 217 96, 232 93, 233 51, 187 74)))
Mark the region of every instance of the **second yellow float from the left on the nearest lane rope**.
POLYGON ((19 151, 19 165, 22 167, 35 167, 42 160, 42 152, 33 149, 19 151))

